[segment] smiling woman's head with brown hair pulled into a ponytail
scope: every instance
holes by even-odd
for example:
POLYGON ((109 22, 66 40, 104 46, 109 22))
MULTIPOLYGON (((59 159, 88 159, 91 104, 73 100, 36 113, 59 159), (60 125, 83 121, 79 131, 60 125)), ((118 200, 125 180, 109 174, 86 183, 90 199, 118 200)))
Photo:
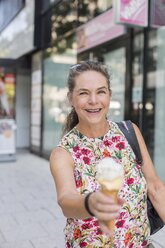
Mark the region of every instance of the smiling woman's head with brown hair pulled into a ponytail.
MULTIPOLYGON (((88 122, 90 126, 92 125, 92 130, 93 124, 99 125, 101 115, 104 115, 103 118, 106 123, 105 117, 109 109, 111 89, 110 76, 104 65, 88 61, 72 66, 68 77, 68 88, 68 98, 72 111, 68 115, 64 133, 70 131, 78 122, 79 128, 83 128, 84 121, 87 121, 86 118, 89 119, 90 116, 98 118, 96 123, 88 122), (83 119, 82 115, 85 115, 86 118, 83 119)), ((95 135, 97 136, 97 133, 95 135)))

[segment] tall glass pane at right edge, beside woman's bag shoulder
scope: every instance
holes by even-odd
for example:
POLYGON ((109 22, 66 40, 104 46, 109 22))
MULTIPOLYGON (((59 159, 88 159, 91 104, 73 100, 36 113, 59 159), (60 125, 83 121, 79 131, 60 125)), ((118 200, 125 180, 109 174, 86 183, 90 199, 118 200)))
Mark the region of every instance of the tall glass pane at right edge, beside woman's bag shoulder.
POLYGON ((145 112, 150 123, 153 158, 156 170, 165 181, 164 169, 164 123, 165 123, 165 29, 159 28, 149 33, 149 68, 145 112))

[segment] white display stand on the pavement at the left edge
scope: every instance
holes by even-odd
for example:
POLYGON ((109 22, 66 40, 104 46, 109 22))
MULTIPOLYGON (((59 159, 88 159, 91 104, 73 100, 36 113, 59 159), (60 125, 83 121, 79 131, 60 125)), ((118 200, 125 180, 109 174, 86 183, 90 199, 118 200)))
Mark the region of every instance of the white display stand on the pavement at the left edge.
POLYGON ((0 162, 16 160, 15 130, 13 119, 0 119, 0 162))

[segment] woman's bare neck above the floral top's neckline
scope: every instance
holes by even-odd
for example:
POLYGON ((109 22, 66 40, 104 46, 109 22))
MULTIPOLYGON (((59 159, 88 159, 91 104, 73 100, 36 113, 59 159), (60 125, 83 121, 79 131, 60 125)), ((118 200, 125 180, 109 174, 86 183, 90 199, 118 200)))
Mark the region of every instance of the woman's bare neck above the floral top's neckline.
POLYGON ((76 128, 78 131, 88 138, 98 138, 104 136, 109 130, 109 122, 105 122, 98 125, 83 125, 83 123, 78 123, 76 128))

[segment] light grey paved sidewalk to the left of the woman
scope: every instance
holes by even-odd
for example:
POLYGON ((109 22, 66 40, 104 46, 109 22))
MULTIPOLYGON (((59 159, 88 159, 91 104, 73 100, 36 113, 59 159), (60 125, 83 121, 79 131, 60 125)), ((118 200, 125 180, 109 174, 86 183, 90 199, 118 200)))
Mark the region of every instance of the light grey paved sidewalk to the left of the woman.
POLYGON ((0 248, 64 248, 64 225, 47 160, 0 162, 0 248))

